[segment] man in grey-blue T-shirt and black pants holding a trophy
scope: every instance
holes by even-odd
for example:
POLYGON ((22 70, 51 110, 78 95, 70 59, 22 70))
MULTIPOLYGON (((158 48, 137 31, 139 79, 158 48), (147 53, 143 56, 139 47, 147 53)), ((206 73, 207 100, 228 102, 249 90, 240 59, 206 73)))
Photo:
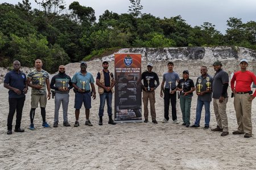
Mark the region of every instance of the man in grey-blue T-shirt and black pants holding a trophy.
POLYGON ((172 105, 172 120, 174 124, 179 124, 177 122, 177 113, 176 113, 176 82, 179 83, 179 75, 174 72, 174 63, 168 62, 168 72, 163 75, 163 82, 161 84, 160 96, 163 97, 164 91, 164 120, 163 123, 167 123, 169 120, 169 106, 170 100, 172 105), (164 86, 164 82, 166 83, 164 86))

